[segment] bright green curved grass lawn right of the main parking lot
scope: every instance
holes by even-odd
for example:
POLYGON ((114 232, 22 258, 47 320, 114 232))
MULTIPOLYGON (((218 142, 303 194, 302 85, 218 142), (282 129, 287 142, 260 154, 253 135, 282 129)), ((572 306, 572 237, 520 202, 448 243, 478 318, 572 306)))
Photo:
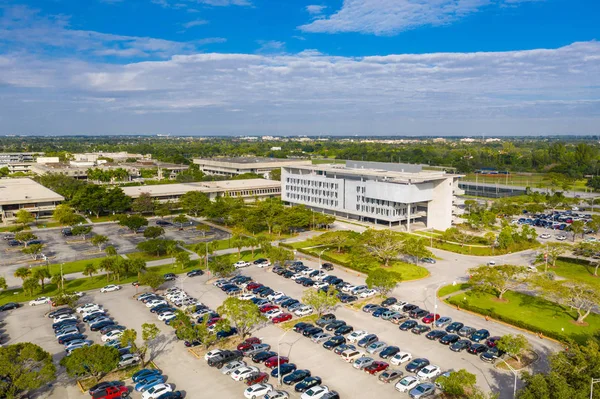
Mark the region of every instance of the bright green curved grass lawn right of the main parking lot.
POLYGON ((579 343, 585 343, 600 330, 600 315, 590 314, 585 319, 588 325, 579 326, 573 323, 576 312, 566 311, 554 302, 512 291, 507 292, 504 298, 508 301, 497 301, 492 294, 467 291, 448 298, 446 302, 480 314, 490 314, 493 318, 534 332, 571 338, 579 343))

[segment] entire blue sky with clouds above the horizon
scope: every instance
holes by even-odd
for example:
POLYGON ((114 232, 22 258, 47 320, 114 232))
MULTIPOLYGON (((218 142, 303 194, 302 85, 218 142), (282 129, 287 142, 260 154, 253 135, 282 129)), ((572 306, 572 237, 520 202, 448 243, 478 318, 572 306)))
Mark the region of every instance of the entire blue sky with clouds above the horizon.
POLYGON ((597 0, 0 0, 0 134, 600 134, 597 0))

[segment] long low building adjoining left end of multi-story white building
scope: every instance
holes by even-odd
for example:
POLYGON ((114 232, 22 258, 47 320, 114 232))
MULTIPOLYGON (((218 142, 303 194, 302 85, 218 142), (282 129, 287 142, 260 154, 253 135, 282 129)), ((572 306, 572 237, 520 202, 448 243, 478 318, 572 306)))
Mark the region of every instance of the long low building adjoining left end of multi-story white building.
POLYGON ((135 199, 142 193, 148 193, 159 202, 175 202, 190 191, 205 193, 211 200, 217 197, 235 197, 252 202, 255 199, 278 197, 281 195, 281 183, 265 179, 247 179, 123 187, 123 192, 131 198, 135 199))

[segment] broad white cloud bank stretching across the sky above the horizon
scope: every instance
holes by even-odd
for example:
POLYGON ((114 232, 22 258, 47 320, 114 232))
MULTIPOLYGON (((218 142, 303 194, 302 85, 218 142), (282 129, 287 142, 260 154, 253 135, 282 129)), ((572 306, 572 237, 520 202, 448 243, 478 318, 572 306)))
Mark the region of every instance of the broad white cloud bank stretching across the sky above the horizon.
POLYGON ((599 57, 598 42, 362 58, 209 53, 126 65, 19 52, 0 56, 0 134, 595 134, 599 57))

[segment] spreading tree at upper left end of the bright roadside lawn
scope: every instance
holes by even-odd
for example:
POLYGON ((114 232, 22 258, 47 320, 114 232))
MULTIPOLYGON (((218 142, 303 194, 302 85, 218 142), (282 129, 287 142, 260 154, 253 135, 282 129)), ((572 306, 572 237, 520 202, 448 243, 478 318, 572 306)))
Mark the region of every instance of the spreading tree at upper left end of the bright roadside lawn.
POLYGON ((523 284, 527 268, 514 265, 483 265, 469 269, 468 272, 472 284, 483 289, 491 289, 496 292, 498 299, 502 299, 506 291, 523 284))

